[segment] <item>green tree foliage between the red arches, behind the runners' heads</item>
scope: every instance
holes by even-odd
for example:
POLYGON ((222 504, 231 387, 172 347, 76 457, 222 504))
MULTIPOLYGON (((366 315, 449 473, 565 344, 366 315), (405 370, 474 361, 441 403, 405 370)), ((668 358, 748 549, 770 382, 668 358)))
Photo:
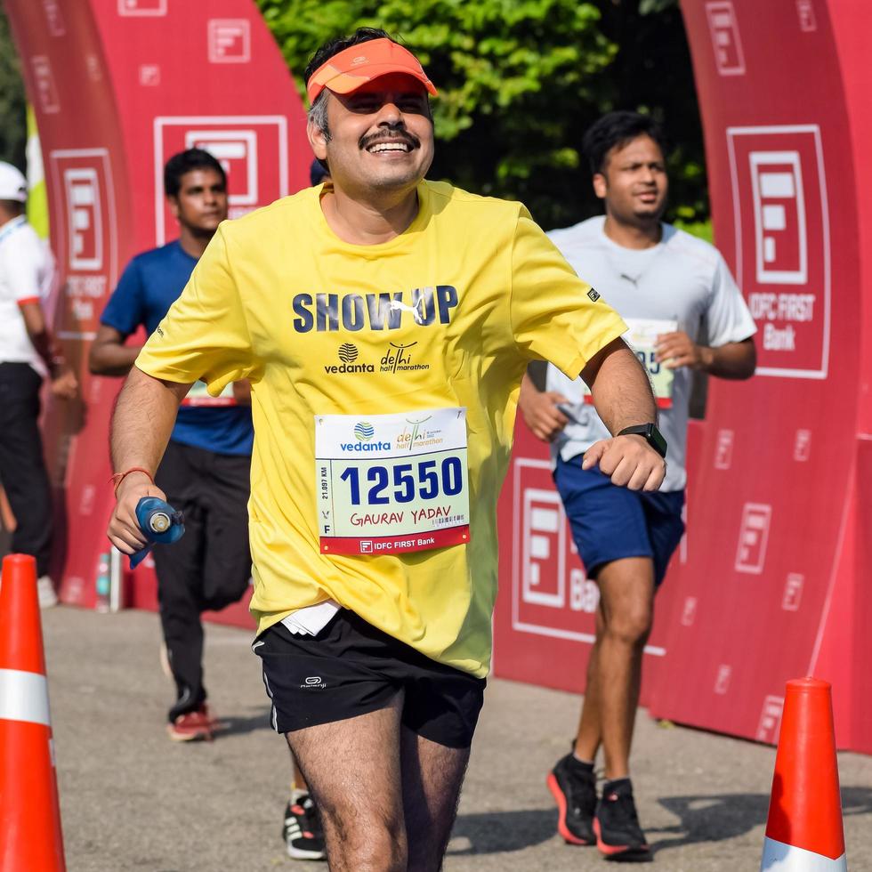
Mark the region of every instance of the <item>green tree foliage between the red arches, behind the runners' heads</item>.
POLYGON ((440 89, 430 176, 521 199, 547 227, 599 211, 580 153, 610 109, 642 109, 680 143, 672 216, 707 217, 696 97, 674 0, 257 0, 301 79, 327 39, 380 27, 440 89))

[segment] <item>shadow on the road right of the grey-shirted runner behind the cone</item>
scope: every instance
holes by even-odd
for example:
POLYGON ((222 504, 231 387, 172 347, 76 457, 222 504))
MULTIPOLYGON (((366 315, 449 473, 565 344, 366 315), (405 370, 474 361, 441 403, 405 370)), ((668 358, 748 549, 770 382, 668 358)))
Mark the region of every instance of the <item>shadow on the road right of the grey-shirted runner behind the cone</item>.
MULTIPOLYGON (((679 823, 673 827, 648 829, 654 852, 684 844, 722 842, 742 836, 759 824, 766 823, 769 812, 769 795, 763 794, 666 796, 661 797, 659 803, 671 811, 679 823)), ((872 789, 843 787, 842 807, 845 817, 872 814, 872 789)))

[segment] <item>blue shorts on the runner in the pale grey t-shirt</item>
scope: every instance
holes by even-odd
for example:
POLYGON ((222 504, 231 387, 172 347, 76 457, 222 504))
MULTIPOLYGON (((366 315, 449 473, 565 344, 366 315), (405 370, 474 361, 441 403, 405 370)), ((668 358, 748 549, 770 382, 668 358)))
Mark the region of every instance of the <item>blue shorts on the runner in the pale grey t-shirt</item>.
POLYGON ((558 458, 554 484, 588 576, 595 578, 611 561, 650 557, 654 584, 659 585, 684 535, 684 491, 618 488, 599 469, 582 469, 581 460, 582 455, 558 458))

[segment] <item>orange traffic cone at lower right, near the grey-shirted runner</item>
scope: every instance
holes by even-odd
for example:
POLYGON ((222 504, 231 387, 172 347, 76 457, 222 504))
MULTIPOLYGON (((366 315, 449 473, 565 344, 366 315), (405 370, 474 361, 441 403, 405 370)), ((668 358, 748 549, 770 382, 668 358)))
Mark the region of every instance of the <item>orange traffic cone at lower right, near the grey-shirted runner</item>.
POLYGON ((828 682, 787 682, 761 872, 840 872, 842 801, 828 682))

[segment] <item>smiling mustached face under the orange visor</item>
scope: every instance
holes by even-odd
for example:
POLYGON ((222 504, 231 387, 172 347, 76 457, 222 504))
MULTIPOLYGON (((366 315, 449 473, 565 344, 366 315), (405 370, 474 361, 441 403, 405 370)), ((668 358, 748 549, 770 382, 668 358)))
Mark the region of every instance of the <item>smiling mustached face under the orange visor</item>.
POLYGON ((310 122, 309 140, 337 190, 366 198, 414 189, 433 159, 426 89, 392 73, 353 93, 327 93, 327 131, 310 122))

